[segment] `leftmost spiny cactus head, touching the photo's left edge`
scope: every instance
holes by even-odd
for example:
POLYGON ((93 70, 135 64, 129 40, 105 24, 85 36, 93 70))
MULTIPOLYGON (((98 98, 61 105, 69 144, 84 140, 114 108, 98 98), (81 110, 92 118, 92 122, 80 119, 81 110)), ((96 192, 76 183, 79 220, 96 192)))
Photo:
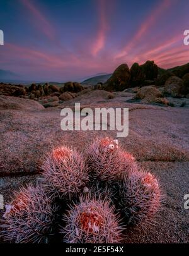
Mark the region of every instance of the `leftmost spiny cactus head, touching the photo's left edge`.
POLYGON ((29 185, 15 193, 14 200, 6 205, 2 236, 15 243, 48 243, 54 229, 57 206, 40 184, 29 185))

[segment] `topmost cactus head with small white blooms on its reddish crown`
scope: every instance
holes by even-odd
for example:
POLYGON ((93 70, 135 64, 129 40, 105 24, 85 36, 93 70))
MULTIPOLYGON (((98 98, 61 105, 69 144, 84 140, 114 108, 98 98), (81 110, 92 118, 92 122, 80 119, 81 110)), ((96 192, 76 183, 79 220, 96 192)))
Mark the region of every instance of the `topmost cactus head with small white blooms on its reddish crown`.
POLYGON ((103 181, 122 178, 123 173, 130 171, 134 157, 118 146, 112 138, 96 138, 87 150, 87 163, 91 175, 103 181))

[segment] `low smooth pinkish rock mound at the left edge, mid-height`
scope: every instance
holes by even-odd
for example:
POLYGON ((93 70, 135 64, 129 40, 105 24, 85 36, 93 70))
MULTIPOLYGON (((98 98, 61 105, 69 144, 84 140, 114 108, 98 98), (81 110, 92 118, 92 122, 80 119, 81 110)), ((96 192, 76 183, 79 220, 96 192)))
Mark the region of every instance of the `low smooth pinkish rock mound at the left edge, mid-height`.
POLYGON ((36 101, 17 97, 0 96, 0 109, 17 109, 21 111, 38 111, 44 107, 36 101))

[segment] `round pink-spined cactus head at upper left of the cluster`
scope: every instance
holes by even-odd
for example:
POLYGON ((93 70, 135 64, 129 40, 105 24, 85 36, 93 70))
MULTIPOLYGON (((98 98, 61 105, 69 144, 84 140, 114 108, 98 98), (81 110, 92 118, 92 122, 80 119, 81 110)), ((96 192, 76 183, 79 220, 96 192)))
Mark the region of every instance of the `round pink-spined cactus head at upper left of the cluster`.
POLYGON ((49 192, 69 197, 81 192, 88 181, 83 155, 75 149, 58 147, 43 162, 43 178, 49 192))

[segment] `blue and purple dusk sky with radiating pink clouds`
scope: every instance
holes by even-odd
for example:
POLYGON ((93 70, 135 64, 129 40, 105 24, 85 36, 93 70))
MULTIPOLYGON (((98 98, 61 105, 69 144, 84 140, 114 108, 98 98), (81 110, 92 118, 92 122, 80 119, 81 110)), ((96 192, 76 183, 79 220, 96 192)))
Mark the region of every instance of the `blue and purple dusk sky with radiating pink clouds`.
POLYGON ((0 0, 0 70, 21 80, 81 81, 154 60, 189 62, 188 0, 0 0))

